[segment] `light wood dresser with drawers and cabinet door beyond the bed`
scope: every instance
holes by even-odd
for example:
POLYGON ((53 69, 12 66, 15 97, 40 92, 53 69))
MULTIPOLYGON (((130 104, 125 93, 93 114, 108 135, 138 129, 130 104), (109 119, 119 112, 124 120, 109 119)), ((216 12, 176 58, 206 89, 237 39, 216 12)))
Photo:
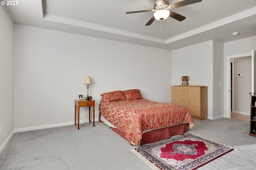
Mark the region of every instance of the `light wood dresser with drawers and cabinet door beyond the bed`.
POLYGON ((194 119, 207 119, 207 86, 171 86, 172 103, 185 106, 194 119))

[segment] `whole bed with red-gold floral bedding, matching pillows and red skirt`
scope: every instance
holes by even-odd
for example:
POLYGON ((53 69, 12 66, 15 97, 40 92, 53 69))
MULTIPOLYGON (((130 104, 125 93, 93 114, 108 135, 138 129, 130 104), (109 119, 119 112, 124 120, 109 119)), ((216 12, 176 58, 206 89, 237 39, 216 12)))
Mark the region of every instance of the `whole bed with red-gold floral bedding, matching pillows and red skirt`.
POLYGON ((107 92, 100 96, 99 121, 131 145, 168 139, 194 126, 186 107, 144 99, 138 89, 107 92))

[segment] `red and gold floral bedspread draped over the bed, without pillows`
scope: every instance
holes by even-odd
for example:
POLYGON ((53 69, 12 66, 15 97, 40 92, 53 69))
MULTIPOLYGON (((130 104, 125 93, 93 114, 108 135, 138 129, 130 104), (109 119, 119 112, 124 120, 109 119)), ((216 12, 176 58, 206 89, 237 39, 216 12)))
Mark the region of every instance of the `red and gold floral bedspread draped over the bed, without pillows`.
POLYGON ((143 131, 159 129, 194 121, 188 109, 177 104, 153 102, 146 99, 100 101, 100 114, 112 125, 126 133, 126 138, 140 146, 143 131))

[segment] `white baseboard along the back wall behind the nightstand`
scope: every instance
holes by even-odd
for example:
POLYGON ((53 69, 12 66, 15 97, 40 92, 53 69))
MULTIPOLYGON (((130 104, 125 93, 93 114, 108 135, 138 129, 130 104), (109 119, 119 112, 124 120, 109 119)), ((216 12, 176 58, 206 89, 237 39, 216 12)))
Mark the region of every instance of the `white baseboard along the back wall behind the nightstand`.
MULTIPOLYGON (((99 121, 99 118, 95 119, 95 121, 99 121)), ((80 120, 79 122, 82 123, 82 122, 89 122, 89 121, 88 120, 80 120)), ((42 126, 34 126, 34 127, 25 127, 25 128, 20 128, 20 129, 14 129, 14 133, 25 132, 25 131, 33 131, 33 130, 38 130, 38 129, 46 129, 46 128, 51 128, 51 127, 67 126, 67 125, 74 125, 74 121, 65 122, 65 123, 56 123, 56 124, 52 124, 52 125, 42 125, 42 126)))

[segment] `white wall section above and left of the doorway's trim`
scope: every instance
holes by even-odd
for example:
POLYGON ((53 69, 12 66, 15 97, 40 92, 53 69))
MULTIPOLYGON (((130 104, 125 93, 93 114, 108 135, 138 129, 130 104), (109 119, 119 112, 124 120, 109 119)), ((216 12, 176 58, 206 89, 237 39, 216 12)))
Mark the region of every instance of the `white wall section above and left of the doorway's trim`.
MULTIPOLYGON (((247 53, 251 53, 252 49, 256 49, 256 36, 254 37, 248 37, 244 39, 239 39, 236 41, 230 41, 227 43, 224 43, 224 117, 229 117, 230 113, 228 113, 228 107, 229 106, 229 92, 228 92, 228 86, 227 83, 229 78, 227 76, 228 72, 228 63, 227 60, 230 58, 230 56, 237 56, 237 55, 243 55, 247 53)), ((250 95, 248 94, 248 98, 250 98, 250 95)), ((243 100, 243 99, 241 99, 243 100)))

